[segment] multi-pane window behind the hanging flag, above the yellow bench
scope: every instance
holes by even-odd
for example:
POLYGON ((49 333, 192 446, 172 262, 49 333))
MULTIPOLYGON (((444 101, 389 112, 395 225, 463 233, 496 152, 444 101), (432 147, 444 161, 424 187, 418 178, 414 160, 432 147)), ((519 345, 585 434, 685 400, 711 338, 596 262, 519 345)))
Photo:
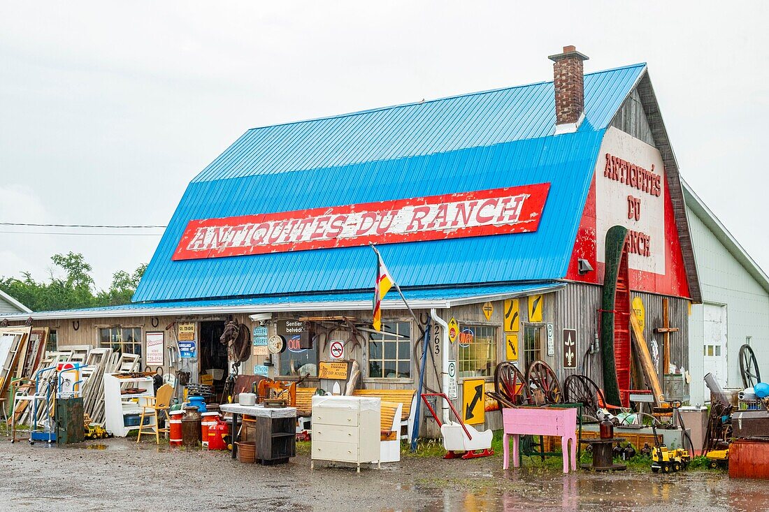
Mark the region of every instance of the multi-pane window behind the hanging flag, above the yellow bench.
POLYGON ((411 378, 411 323, 382 322, 369 334, 368 377, 411 378))

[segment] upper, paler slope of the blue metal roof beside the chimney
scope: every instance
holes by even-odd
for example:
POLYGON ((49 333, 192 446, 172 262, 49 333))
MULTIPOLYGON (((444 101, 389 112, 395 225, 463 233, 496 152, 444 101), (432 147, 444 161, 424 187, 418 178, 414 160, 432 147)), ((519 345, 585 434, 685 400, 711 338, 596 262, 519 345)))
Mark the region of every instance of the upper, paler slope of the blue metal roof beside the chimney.
MULTIPOLYGON (((646 66, 584 76, 581 131, 607 128, 646 66)), ((193 181, 336 168, 553 135, 552 81, 246 131, 193 181)))

